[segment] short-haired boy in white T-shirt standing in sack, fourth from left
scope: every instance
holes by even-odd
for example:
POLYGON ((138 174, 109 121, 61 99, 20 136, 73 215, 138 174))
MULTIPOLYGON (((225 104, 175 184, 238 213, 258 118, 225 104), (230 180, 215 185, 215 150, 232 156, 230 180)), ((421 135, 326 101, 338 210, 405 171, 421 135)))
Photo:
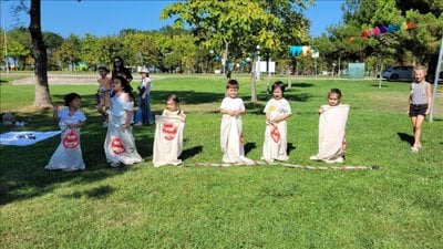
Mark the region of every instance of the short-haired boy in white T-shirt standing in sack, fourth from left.
POLYGON ((223 152, 223 163, 240 164, 250 163, 245 157, 243 141, 241 115, 245 114, 243 100, 238 97, 239 84, 236 80, 229 80, 226 90, 227 96, 223 98, 220 113, 220 146, 223 152))

